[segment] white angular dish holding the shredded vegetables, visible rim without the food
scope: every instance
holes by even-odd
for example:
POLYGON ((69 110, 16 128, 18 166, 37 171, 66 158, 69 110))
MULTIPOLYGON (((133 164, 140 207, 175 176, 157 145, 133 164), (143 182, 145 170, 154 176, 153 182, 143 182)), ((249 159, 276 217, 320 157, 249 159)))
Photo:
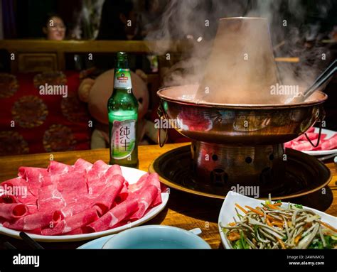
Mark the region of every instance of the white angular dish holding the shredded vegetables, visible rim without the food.
MULTIPOLYGON (((264 203, 264 201, 265 200, 257 200, 252 197, 245 197, 245 195, 240 195, 237 192, 232 192, 232 191, 228 192, 223 202, 223 206, 221 207, 219 219, 218 219, 218 227, 219 227, 219 232, 221 236, 221 241, 223 242, 223 246, 225 247, 225 249, 230 249, 230 241, 228 241, 227 237, 223 233, 223 229, 221 229, 220 223, 223 226, 227 226, 227 224, 234 221, 233 217, 237 219, 237 215, 235 212, 235 203, 237 203, 241 207, 245 207, 245 205, 250 206, 250 207, 257 207, 257 206, 260 206, 260 203, 264 203)), ((282 206, 283 205, 284 207, 287 207, 288 202, 282 202, 282 206)), ((305 207, 305 206, 303 207, 308 210, 312 210, 313 212, 316 212, 316 214, 319 214, 323 222, 326 222, 333 227, 337 227, 337 217, 333 217, 330 214, 326 214, 325 212, 311 209, 309 207, 305 207)))

